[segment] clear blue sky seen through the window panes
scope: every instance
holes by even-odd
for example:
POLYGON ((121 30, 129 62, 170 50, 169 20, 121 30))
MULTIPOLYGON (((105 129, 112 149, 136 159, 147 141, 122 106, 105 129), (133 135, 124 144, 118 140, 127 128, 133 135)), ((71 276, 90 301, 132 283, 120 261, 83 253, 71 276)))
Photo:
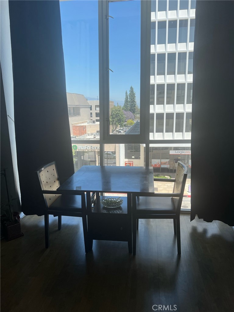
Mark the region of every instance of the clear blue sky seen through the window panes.
MULTIPOLYGON (((99 97, 98 1, 60 2, 67 92, 99 97)), ((110 99, 123 104, 132 85, 140 96, 140 1, 111 2, 110 99)))

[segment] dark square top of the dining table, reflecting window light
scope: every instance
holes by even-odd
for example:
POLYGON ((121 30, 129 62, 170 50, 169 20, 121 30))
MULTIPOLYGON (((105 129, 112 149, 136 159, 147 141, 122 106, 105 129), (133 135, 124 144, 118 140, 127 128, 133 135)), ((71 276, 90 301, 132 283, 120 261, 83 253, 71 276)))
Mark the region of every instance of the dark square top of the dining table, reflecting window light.
POLYGON ((154 193, 152 167, 83 166, 58 189, 61 193, 154 193))

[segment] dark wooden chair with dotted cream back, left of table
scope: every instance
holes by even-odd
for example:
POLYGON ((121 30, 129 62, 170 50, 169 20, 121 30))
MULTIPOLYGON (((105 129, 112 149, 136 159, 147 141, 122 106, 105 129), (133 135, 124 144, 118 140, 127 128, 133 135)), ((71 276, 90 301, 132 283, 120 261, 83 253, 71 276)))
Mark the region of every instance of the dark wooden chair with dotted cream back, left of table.
POLYGON ((46 203, 45 212, 45 241, 46 248, 49 247, 49 215, 58 217, 58 230, 61 230, 62 216, 82 217, 85 252, 89 251, 88 230, 87 230, 87 211, 85 193, 77 195, 61 195, 56 189, 60 186, 57 174, 56 163, 37 169, 38 178, 41 184, 42 193, 46 203))

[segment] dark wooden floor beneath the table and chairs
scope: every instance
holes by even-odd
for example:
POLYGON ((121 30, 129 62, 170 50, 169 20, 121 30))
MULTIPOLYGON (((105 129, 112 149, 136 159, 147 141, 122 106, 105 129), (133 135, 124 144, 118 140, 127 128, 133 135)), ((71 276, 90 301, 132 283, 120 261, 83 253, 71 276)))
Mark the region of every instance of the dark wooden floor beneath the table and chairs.
POLYGON ((43 217, 23 218, 24 237, 1 242, 1 312, 234 311, 234 232, 222 222, 181 215, 178 257, 172 220, 140 220, 133 257, 112 241, 85 255, 81 218, 63 217, 60 232, 50 221, 47 250, 43 217))

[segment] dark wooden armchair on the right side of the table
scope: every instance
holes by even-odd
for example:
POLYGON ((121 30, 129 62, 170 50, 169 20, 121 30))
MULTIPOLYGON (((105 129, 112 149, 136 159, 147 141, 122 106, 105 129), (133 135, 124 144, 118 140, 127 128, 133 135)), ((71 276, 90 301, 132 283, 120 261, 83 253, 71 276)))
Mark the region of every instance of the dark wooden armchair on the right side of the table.
POLYGON ((177 235, 177 251, 180 246, 180 208, 187 178, 187 167, 178 162, 175 179, 154 179, 154 181, 173 182, 173 193, 155 193, 147 197, 133 196, 133 255, 136 254, 136 231, 139 219, 173 219, 174 234, 177 235))

